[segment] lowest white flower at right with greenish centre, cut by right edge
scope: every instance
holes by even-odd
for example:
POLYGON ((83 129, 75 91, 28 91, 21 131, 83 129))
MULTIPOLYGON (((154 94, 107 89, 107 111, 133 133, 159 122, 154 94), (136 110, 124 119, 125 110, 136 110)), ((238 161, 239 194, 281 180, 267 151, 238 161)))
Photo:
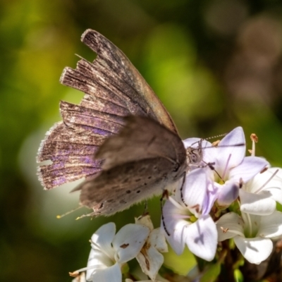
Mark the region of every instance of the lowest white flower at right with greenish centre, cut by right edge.
POLYGON ((270 238, 282 235, 282 213, 269 216, 230 212, 216 222, 219 241, 233 238, 242 255, 252 264, 260 264, 271 254, 270 238))

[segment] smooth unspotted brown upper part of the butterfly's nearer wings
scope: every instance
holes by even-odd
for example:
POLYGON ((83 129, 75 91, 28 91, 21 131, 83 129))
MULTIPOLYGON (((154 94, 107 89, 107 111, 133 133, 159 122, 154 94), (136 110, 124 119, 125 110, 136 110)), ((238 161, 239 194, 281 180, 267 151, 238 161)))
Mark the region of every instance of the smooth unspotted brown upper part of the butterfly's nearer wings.
POLYGON ((95 153, 95 159, 105 160, 103 169, 156 157, 172 166, 185 162, 185 148, 178 135, 144 116, 128 116, 125 121, 120 133, 109 137, 95 153))

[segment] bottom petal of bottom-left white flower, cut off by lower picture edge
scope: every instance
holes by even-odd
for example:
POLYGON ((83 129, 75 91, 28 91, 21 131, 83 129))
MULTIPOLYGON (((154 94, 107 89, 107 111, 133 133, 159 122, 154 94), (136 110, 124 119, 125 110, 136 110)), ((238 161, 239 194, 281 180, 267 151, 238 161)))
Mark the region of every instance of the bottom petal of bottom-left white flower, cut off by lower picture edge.
MULTIPOLYGON (((91 280, 93 282, 121 282, 121 279, 121 268, 118 263, 114 264, 111 267, 107 267, 106 269, 99 269, 97 271, 94 271, 91 276, 91 280)), ((88 278, 87 281, 89 281, 88 278)))

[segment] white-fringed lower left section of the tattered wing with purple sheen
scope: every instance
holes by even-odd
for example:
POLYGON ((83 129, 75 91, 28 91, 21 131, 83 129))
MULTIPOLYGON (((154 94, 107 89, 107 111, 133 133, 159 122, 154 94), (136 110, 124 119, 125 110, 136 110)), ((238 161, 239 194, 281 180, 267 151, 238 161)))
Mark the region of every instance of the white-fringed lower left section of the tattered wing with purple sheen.
POLYGON ((90 132, 56 123, 39 147, 37 160, 52 161, 52 164, 39 166, 42 185, 51 189, 100 171, 102 161, 93 160, 93 154, 102 142, 99 136, 90 132))

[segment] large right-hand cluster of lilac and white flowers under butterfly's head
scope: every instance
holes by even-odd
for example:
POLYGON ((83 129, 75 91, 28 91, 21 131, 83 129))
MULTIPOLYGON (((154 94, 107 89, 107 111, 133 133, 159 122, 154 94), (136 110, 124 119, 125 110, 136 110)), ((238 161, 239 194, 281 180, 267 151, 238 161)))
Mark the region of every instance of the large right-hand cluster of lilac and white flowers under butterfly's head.
MULTIPOLYGON (((282 235, 282 213, 276 211, 276 202, 282 201, 282 171, 255 157, 255 137, 252 141, 250 157, 245 157, 240 127, 216 146, 202 142, 202 167, 193 168, 186 176, 183 197, 176 203, 169 197, 164 207, 166 237, 177 253, 186 243, 198 257, 212 260, 217 242, 233 238, 247 261, 259 264, 269 257, 273 248, 270 238, 282 235), (215 223, 209 215, 212 209, 215 223)), ((195 143, 195 138, 185 140, 185 146, 191 142, 195 143)))

